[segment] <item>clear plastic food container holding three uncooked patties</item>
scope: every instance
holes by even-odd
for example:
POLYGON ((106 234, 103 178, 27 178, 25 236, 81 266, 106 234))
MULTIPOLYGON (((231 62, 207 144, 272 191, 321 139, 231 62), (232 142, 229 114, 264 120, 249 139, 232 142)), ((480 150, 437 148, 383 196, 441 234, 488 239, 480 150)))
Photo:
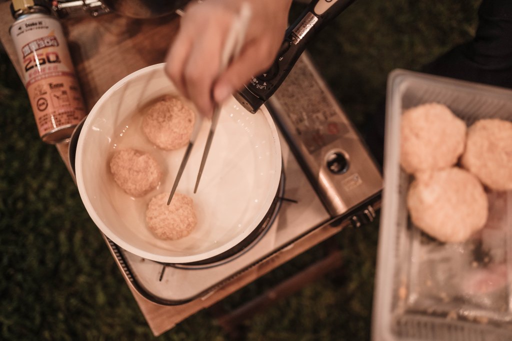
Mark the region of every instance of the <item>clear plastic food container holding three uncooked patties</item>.
POLYGON ((489 219, 464 243, 441 243, 409 219, 413 176, 400 168, 400 119, 403 110, 430 102, 445 104, 468 126, 483 118, 512 121, 510 90, 390 74, 372 338, 512 340, 512 191, 488 192, 489 219))

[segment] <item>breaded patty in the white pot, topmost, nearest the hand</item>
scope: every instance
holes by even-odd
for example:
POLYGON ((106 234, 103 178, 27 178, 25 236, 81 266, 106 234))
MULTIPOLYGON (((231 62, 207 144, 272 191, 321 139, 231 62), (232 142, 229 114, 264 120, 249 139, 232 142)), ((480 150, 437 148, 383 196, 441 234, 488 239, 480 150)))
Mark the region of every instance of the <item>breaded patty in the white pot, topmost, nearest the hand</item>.
POLYGON ((175 150, 187 145, 194 122, 192 109, 176 97, 165 96, 146 108, 142 130, 157 147, 175 150))

